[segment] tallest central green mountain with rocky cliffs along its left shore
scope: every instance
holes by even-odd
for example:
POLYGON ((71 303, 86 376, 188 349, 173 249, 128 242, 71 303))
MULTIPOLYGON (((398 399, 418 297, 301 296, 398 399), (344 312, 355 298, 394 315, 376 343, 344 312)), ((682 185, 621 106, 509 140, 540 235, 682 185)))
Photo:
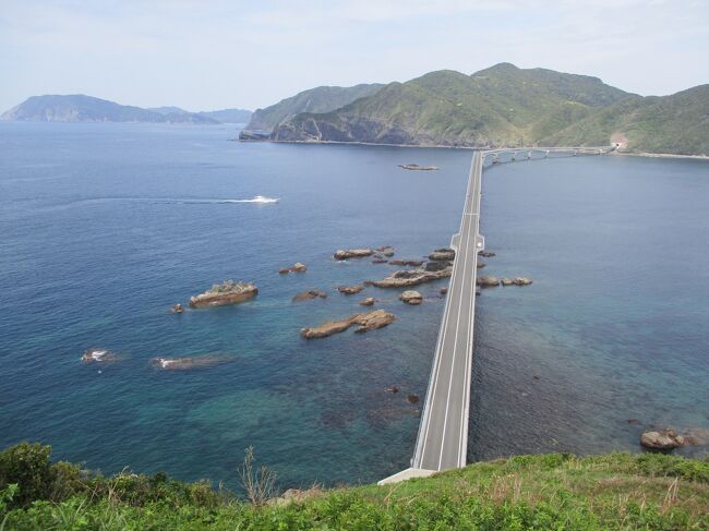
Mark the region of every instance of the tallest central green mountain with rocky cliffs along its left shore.
POLYGON ((472 75, 431 72, 331 112, 301 112, 276 141, 449 146, 530 143, 629 95, 597 77, 501 63, 472 75))

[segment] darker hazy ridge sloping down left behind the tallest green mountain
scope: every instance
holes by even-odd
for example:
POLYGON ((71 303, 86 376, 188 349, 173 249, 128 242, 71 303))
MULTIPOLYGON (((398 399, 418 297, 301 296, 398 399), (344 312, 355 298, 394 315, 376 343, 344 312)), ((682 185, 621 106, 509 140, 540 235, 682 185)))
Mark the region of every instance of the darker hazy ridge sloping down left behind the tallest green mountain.
POLYGON ((356 99, 371 96, 383 85, 361 84, 349 87, 319 86, 283 99, 265 109, 256 109, 247 125, 250 131, 271 131, 299 112, 328 112, 356 99))

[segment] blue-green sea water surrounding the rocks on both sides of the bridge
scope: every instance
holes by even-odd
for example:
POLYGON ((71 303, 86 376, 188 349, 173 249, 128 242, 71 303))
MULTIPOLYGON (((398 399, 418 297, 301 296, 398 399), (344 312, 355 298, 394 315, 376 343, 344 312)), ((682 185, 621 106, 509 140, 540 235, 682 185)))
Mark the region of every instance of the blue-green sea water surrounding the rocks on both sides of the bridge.
MULTIPOLYGON (((406 395, 425 394, 446 282, 421 287, 418 307, 375 288, 346 297, 338 285, 393 267, 332 253, 392 244, 417 257, 447 245, 470 152, 235 136, 0 124, 0 446, 39 439, 105 472, 231 485, 250 445, 284 486, 370 482, 408 464, 419 405, 406 395), (256 194, 280 202, 225 202, 256 194), (278 275, 297 261, 305 274, 278 275), (255 282, 259 297, 169 313, 226 278, 255 282), (329 297, 290 302, 309 288, 329 297), (396 323, 300 338, 365 295, 396 323), (82 365, 91 347, 122 359, 82 365), (184 373, 148 364, 212 353, 233 361, 184 373), (384 393, 393 384, 402 393, 384 393)), ((644 425, 709 427, 708 205, 701 161, 578 157, 485 171, 481 224, 497 256, 484 271, 534 283, 478 299, 470 460, 639 451, 644 425)))

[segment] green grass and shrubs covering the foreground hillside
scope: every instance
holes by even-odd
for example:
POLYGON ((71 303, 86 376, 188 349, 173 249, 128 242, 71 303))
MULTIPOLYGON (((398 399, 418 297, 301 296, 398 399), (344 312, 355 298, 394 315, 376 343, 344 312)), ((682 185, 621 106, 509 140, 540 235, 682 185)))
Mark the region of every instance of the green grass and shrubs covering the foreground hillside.
MULTIPOLYGON (((520 456, 249 503, 164 473, 89 473, 51 462, 50 452, 22 443, 0 454, 0 530, 709 529, 709 458, 520 456)), ((255 480, 262 472, 249 471, 255 480)))

